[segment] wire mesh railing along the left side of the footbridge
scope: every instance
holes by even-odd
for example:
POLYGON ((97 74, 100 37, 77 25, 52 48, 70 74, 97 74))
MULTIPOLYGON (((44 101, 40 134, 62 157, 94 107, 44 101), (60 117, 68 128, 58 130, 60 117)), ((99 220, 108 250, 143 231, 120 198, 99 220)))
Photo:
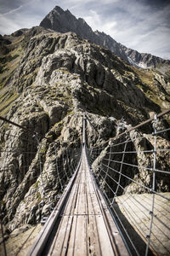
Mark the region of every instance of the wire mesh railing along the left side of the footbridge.
POLYGON ((37 226, 47 218, 76 171, 81 149, 66 148, 48 140, 48 136, 42 138, 22 125, 0 119, 3 121, 0 133, 0 179, 3 184, 0 189, 0 244, 3 244, 2 255, 6 256, 10 252, 5 225, 9 223, 8 230, 12 233, 23 224, 37 226), (32 207, 31 201, 34 202, 32 207), (27 213, 23 211, 24 204, 30 207, 27 213), (20 218, 15 218, 18 212, 21 212, 20 218))

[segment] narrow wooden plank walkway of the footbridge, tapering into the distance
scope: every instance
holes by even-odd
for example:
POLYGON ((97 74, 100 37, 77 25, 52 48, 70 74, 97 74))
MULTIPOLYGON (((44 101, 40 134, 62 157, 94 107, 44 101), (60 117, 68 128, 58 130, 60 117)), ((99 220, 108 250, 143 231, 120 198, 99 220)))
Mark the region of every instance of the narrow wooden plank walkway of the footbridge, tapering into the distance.
MULTIPOLYGON (((128 255, 90 173, 85 149, 71 191, 42 255, 128 255)), ((30 255, 41 255, 31 253, 30 255)))

